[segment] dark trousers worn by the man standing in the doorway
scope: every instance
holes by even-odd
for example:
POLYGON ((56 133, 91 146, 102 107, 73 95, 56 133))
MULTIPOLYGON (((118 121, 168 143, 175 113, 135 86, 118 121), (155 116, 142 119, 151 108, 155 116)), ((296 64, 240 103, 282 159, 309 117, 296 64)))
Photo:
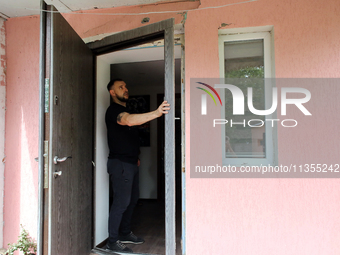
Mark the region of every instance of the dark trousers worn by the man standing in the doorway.
POLYGON ((119 159, 109 159, 107 171, 113 190, 113 203, 109 215, 109 242, 118 240, 119 234, 131 232, 131 217, 139 199, 138 166, 119 159))

